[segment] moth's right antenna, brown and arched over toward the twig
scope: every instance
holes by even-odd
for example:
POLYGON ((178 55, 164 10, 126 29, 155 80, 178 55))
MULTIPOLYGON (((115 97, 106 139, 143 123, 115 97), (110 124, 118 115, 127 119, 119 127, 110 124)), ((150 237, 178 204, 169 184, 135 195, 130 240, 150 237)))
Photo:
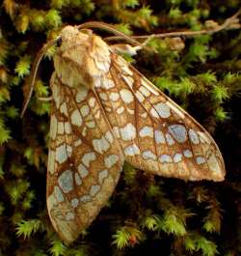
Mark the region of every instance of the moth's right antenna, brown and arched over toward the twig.
POLYGON ((140 45, 140 43, 131 37, 126 36, 119 30, 117 30, 113 25, 106 24, 103 22, 98 22, 98 21, 90 21, 90 22, 85 22, 81 25, 76 26, 78 29, 85 29, 85 28, 99 28, 99 29, 104 29, 107 30, 108 32, 111 32, 115 34, 116 36, 120 37, 121 39, 124 39, 126 42, 129 42, 134 45, 140 45))

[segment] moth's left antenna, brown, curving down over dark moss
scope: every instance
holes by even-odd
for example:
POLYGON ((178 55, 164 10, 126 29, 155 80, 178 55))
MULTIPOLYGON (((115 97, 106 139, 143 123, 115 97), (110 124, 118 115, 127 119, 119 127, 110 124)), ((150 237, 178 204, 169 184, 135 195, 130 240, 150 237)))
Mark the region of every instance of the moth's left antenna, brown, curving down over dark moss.
POLYGON ((37 75, 37 71, 39 69, 39 66, 40 66, 40 61, 43 57, 43 55, 46 53, 46 51, 48 50, 49 47, 51 47, 52 45, 54 45, 54 43, 56 43, 61 37, 58 37, 54 40, 51 40, 49 41, 48 43, 45 43, 40 51, 38 52, 35 60, 34 60, 34 63, 33 63, 33 66, 32 66, 32 69, 31 69, 31 83, 30 83, 30 90, 29 90, 29 94, 28 94, 28 97, 26 100, 24 100, 24 103, 23 103, 23 107, 22 107, 22 111, 21 111, 21 115, 20 117, 22 118, 25 111, 26 111, 26 108, 29 104, 29 101, 32 97, 32 94, 33 94, 33 91, 34 91, 34 88, 35 88, 35 80, 36 80, 36 75, 37 75))

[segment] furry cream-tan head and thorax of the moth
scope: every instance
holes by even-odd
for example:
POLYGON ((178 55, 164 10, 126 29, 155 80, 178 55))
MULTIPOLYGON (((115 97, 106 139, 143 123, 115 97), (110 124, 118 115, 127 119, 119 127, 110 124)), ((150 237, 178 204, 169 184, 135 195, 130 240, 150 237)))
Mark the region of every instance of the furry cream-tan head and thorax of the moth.
POLYGON ((62 83, 70 87, 94 87, 96 79, 109 71, 108 45, 91 30, 67 26, 57 41, 54 67, 62 83))

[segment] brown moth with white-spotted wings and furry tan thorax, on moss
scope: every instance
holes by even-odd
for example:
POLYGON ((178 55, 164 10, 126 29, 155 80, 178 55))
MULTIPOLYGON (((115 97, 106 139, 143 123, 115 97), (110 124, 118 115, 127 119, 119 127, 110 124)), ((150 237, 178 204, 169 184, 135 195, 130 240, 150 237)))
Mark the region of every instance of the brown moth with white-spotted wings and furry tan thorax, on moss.
POLYGON ((47 209, 64 242, 106 204, 124 160, 160 176, 224 180, 224 160, 208 132, 115 46, 73 26, 60 38, 50 80, 47 209))

